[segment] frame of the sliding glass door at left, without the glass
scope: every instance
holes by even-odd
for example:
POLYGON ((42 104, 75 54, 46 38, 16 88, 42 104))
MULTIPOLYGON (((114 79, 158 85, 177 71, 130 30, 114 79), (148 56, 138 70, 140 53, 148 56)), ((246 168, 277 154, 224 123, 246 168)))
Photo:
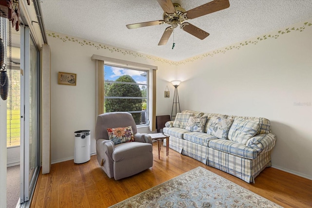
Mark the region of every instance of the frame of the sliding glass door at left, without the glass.
MULTIPOLYGON (((36 181, 39 175, 39 50, 31 37, 29 27, 20 26, 20 203, 31 199, 36 181), (36 118, 33 125, 36 125, 35 138, 35 169, 30 175, 30 76, 31 76, 31 42, 36 48, 36 118)), ((34 119, 34 118, 32 118, 34 119)))

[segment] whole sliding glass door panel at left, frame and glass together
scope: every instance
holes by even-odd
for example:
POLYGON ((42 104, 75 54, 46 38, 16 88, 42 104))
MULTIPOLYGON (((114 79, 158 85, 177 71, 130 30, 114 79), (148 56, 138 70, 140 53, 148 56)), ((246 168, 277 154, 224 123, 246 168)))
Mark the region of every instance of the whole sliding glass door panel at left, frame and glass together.
POLYGON ((39 173, 39 51, 20 28, 20 203, 30 199, 39 173))

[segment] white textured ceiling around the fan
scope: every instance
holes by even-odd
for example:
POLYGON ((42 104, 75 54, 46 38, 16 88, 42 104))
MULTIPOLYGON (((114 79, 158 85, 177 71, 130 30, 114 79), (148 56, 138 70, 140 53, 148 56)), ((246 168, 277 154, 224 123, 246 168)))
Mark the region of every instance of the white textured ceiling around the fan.
MULTIPOLYGON (((186 11, 211 0, 172 0, 186 11)), ((230 7, 188 20, 210 33, 204 40, 169 25, 127 29, 126 24, 162 19, 156 0, 40 0, 46 30, 179 61, 312 18, 312 0, 230 0, 230 7), (173 42, 176 43, 172 49, 173 42)))

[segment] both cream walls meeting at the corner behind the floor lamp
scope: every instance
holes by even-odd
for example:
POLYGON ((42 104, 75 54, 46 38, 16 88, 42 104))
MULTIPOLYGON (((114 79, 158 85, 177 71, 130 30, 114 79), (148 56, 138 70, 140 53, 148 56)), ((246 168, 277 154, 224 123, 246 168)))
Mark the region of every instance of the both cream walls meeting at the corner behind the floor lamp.
MULTIPOLYGON (((266 34, 276 39, 255 37, 246 46, 237 43, 232 50, 224 48, 178 63, 111 46, 97 49, 94 42, 81 46, 82 39, 69 41, 71 37, 53 37, 49 32, 52 162, 73 158, 75 131, 94 131, 95 64, 90 57, 96 54, 158 66, 157 115, 171 113, 174 87, 169 81, 180 79, 181 110, 270 119, 277 136, 273 167, 312 179, 312 26, 303 32, 282 31, 284 35, 266 34), (58 85, 59 71, 76 73, 77 86, 58 85), (167 85, 170 98, 164 98, 167 85)), ((95 152, 94 139, 91 152, 95 152)))

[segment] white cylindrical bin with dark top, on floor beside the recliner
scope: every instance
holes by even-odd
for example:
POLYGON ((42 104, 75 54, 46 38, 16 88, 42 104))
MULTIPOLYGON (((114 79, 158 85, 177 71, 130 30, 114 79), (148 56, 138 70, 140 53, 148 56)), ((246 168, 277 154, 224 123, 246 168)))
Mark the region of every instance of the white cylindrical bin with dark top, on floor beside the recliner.
POLYGON ((90 160, 90 131, 75 132, 74 163, 85 163, 90 160))

